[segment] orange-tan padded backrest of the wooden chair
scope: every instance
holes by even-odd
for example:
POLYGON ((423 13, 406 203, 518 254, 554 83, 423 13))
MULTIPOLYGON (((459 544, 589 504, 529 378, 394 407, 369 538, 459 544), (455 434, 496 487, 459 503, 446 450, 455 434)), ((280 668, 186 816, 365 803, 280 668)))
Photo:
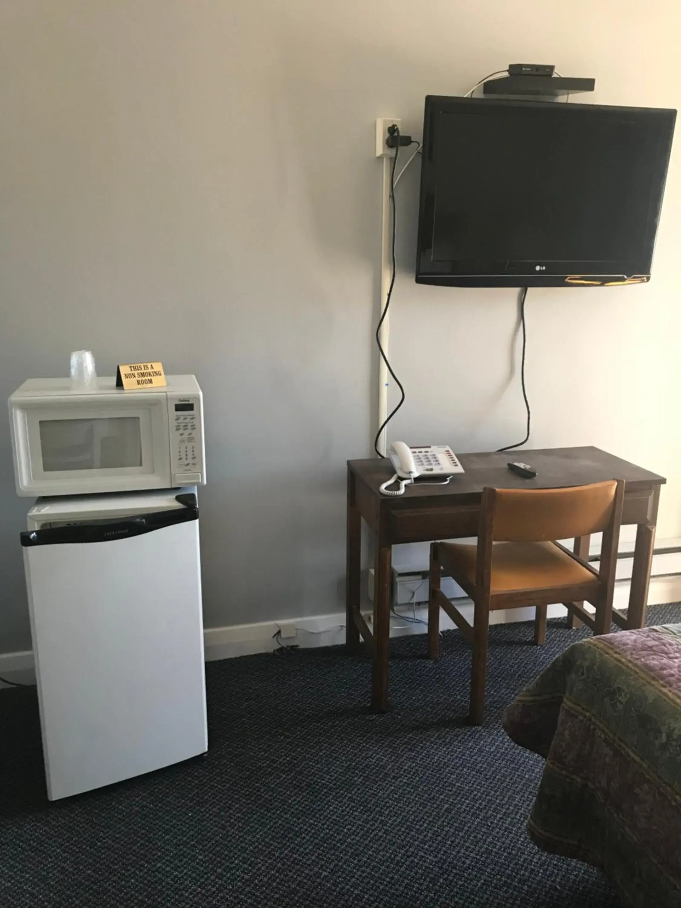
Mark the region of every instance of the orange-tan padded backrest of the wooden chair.
POLYGON ((610 523, 616 491, 615 479, 571 489, 494 489, 492 539, 544 542, 599 533, 610 523))

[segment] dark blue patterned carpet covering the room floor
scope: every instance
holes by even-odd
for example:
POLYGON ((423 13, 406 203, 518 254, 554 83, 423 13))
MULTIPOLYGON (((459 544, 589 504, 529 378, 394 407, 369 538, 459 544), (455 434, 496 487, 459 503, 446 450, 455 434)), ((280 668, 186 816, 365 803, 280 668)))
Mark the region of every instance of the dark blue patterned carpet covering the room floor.
MULTIPOLYGON (((648 623, 681 621, 681 606, 648 623)), ((471 728, 469 647, 393 644, 393 708, 341 647, 207 666, 210 752, 50 804, 34 690, 0 691, 3 908, 619 908, 607 881, 525 833, 542 761, 499 724, 585 634, 490 633, 487 723, 471 728)))

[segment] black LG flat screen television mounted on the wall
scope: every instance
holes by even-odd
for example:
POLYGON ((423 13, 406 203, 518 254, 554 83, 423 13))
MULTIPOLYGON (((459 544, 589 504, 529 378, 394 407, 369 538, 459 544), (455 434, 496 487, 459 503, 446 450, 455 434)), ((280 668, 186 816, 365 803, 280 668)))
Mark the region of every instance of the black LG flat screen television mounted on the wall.
POLYGON ((429 95, 416 280, 647 281, 676 111, 429 95))

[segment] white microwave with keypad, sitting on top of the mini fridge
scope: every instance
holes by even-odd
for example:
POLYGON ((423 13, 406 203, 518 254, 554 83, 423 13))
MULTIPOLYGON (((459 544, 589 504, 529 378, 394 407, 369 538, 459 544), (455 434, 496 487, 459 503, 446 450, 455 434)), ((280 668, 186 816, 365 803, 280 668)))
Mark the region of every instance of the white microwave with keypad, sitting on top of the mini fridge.
POLYGON ((30 379, 9 399, 19 495, 89 495, 206 481, 202 392, 193 375, 165 388, 87 389, 30 379))

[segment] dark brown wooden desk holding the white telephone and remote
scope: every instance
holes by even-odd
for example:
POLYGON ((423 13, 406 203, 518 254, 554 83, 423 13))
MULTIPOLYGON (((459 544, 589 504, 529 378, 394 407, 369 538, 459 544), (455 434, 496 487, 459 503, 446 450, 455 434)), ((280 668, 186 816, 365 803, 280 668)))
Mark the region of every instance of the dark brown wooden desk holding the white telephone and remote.
MULTIPOLYGON (((656 473, 597 448, 555 448, 506 451, 502 454, 461 454, 465 473, 447 486, 408 487, 400 498, 380 494, 381 483, 394 473, 390 460, 348 461, 348 548, 346 645, 350 653, 366 641, 373 655, 371 706, 378 712, 388 706, 390 656, 390 557, 400 542, 429 542, 478 535, 482 489, 557 489, 583 486, 605 479, 626 481, 623 524, 637 525, 634 567, 626 623, 643 627, 655 542, 660 487, 666 482, 656 473), (522 459, 538 470, 536 479, 511 473, 508 461, 522 459), (373 633, 360 614, 360 518, 376 534, 373 633)), ((575 540, 575 550, 588 554, 588 537, 575 540)))

